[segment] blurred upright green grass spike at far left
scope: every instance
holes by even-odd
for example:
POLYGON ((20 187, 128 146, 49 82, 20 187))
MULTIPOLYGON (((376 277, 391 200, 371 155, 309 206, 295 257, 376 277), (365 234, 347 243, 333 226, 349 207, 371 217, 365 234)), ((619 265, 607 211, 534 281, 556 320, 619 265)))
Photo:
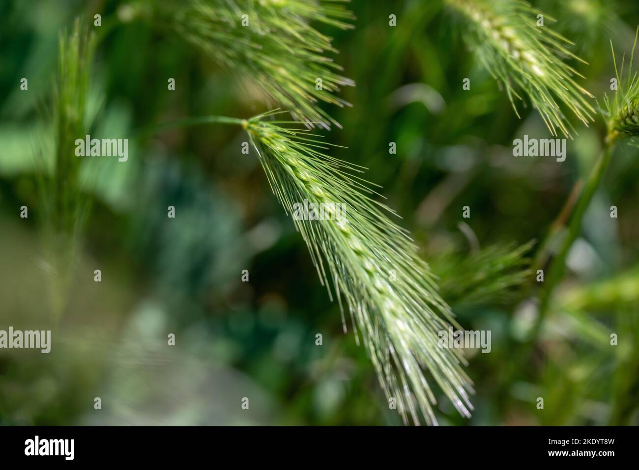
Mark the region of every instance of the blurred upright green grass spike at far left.
POLYGON ((62 33, 58 44, 58 75, 49 119, 52 135, 43 136, 38 149, 42 165, 37 179, 56 317, 65 307, 91 204, 81 189, 81 160, 75 155, 75 139, 86 135, 89 128, 86 109, 96 38, 76 19, 73 31, 62 33))

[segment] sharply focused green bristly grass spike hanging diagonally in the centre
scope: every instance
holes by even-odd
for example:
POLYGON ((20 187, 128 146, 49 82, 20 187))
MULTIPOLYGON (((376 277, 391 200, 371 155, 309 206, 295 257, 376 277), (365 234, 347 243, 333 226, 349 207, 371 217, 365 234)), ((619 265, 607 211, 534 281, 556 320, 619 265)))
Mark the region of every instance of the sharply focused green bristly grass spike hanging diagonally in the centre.
POLYGON ((264 120, 271 114, 242 124, 287 213, 304 200, 346 204, 339 220, 293 222, 321 282, 341 307, 345 303, 387 397, 396 398, 405 423, 410 416, 419 425, 422 414, 436 424, 435 394, 422 371, 427 368, 459 413, 470 416, 463 357, 438 346, 438 332, 457 324, 408 232, 385 215, 391 209, 371 199, 374 190, 357 176, 360 167, 323 153, 328 144, 303 123, 264 120))

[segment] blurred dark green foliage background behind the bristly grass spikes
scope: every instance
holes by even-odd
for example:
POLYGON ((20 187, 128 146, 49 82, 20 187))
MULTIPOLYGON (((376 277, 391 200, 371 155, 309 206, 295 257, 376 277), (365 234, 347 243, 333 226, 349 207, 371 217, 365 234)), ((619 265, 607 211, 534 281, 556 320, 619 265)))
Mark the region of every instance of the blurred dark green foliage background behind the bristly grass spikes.
MULTIPOLYGON (((618 52, 631 49, 639 5, 533 3, 589 63, 571 64, 601 103, 613 77, 609 41, 618 52)), ((240 152, 242 130, 196 126, 134 140, 154 123, 250 117, 272 103, 165 27, 128 19, 126 4, 0 1, 0 329, 51 329, 53 338, 50 354, 0 352, 0 424, 401 423, 364 348, 350 329, 344 334, 339 308, 254 150, 240 152), (95 13, 101 28, 93 27, 95 13), (93 203, 58 316, 49 286, 59 272, 47 262, 36 155, 50 132, 43 109, 56 86, 58 37, 80 14, 100 36, 90 133, 130 137, 129 159, 82 161, 89 176, 81 197, 93 203), (22 77, 28 91, 20 90, 22 77), (93 281, 94 269, 102 282, 93 281), (102 410, 93 409, 94 397, 102 410)), ((473 417, 458 416, 438 391, 440 423, 639 424, 637 149, 615 151, 569 272, 530 338, 537 284, 521 256, 535 256, 574 182, 588 174, 603 119, 589 128, 573 123, 579 135, 567 142, 566 162, 513 157, 513 139, 548 131, 535 110, 520 107, 522 119, 515 116, 440 1, 353 0, 350 8, 355 29, 318 26, 334 37, 335 61, 357 83, 339 93, 353 108, 322 105, 343 129, 321 133, 346 147, 334 156, 366 166, 366 178, 383 186, 458 321, 492 331, 489 354, 466 351, 473 417), (461 86, 466 77, 470 91, 461 86), (461 216, 466 205, 470 219, 461 216)))

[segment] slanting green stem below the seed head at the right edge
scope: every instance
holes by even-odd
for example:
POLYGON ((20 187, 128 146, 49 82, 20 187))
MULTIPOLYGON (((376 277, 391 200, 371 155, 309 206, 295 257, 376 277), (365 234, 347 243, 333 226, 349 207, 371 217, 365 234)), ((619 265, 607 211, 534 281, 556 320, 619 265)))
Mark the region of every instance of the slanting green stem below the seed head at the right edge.
POLYGON ((601 179, 603 179, 606 169, 608 168, 608 163, 610 163, 610 156, 612 155, 613 148, 613 140, 606 139, 606 145, 601 152, 601 156, 599 156, 599 160, 597 160, 597 163, 590 172, 585 185, 583 185, 583 189, 581 190, 579 199, 574 207, 573 216, 567 227, 567 234, 562 241, 557 255, 555 255, 555 257, 551 260, 550 267, 547 269, 547 273, 544 278, 545 288, 543 289, 540 298, 539 315, 537 315, 537 320, 535 321, 533 330, 531 332, 532 334, 530 335, 530 339, 532 342, 535 342, 535 340, 537 339, 537 335, 539 335, 544 316, 548 311, 548 305, 550 303, 553 290, 555 289, 555 287, 557 287, 558 282, 564 276, 564 271, 566 268, 566 257, 571 246, 573 246, 574 241, 580 234, 583 216, 585 215, 586 209, 590 205, 590 201, 592 201, 592 197, 597 191, 597 188, 601 183, 601 179))

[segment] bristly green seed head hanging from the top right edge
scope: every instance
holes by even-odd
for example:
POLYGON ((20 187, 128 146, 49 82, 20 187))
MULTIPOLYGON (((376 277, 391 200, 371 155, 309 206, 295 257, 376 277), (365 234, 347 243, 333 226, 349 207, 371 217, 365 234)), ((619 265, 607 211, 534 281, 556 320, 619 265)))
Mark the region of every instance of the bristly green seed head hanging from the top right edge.
POLYGON ((521 91, 553 135, 557 130, 567 136, 574 132, 560 105, 585 125, 594 120, 594 108, 587 100, 594 96, 573 79, 581 75, 564 62, 581 59, 566 49, 570 44, 566 38, 539 24, 552 17, 519 0, 446 1, 463 17, 466 44, 505 87, 518 116, 515 98, 521 100, 521 91))

